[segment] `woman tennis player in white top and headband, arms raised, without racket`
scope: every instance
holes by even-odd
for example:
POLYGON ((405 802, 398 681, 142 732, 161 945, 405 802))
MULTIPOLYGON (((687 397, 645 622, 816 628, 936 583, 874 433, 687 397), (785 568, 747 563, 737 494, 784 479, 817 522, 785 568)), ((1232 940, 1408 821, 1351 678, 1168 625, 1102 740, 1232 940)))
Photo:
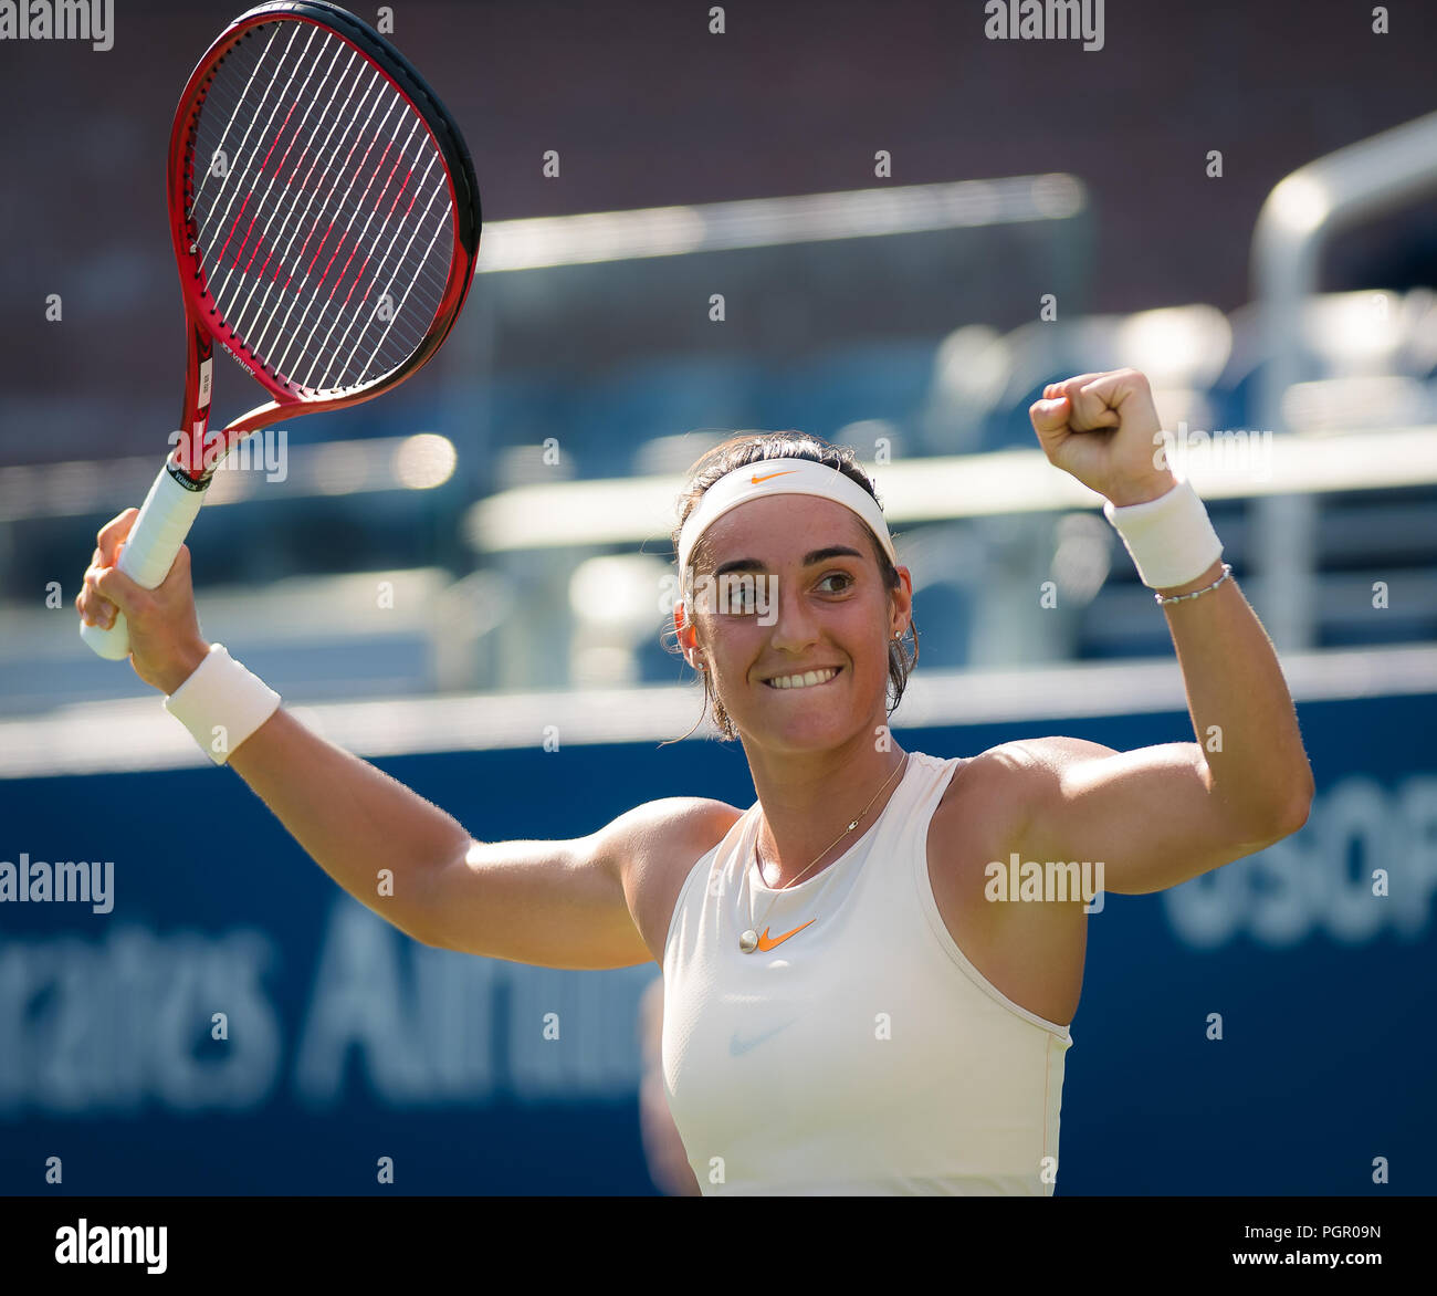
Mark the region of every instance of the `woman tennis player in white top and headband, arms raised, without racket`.
POLYGON ((118 606, 135 670, 211 759, 415 940, 658 963, 664 1088, 706 1195, 1046 1195, 1088 898, 1049 865, 1175 887, 1295 832, 1313 783, 1272 644, 1154 457, 1147 379, 1083 374, 1030 417, 1157 591, 1200 741, 905 751, 888 693, 917 658, 910 572, 852 453, 787 432, 700 460, 675 533, 675 645, 743 744, 747 810, 665 797, 586 838, 480 842, 205 644, 188 552, 155 591, 119 572, 134 510, 99 533, 78 605, 101 624, 118 606))

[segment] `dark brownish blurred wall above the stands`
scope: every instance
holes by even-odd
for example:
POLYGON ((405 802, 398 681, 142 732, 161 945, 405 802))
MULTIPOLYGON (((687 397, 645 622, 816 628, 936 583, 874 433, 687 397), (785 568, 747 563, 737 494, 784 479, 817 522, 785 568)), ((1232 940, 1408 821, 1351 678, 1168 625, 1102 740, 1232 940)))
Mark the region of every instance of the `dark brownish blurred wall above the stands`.
MULTIPOLYGON (((115 9, 105 53, 0 42, 0 464, 142 453, 174 418, 165 145, 185 75, 241 6, 115 9)), ((894 184, 1071 171, 1096 210, 1092 310, 1240 305, 1272 185, 1437 106, 1437 6, 1417 0, 1390 6, 1388 36, 1346 0, 1109 0, 1094 52, 987 40, 980 0, 729 4, 723 36, 708 4, 675 0, 392 9, 464 128, 487 220, 869 187, 877 149, 894 184)), ((996 300, 992 322, 1033 309, 996 300)))

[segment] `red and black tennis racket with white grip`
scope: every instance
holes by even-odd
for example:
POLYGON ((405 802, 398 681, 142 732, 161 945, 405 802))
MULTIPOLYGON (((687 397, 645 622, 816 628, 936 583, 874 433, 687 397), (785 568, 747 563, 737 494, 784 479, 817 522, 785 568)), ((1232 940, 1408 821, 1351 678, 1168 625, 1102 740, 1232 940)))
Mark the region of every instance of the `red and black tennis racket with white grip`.
MULTIPOLYGON (((170 135, 170 233, 188 359, 178 435, 119 569, 170 572, 211 474, 250 432, 369 401, 448 335, 480 207, 454 119, 388 40, 322 0, 237 17, 190 76, 170 135), (214 343, 270 399, 210 428, 214 343)), ((80 625, 129 655, 124 614, 80 625)))

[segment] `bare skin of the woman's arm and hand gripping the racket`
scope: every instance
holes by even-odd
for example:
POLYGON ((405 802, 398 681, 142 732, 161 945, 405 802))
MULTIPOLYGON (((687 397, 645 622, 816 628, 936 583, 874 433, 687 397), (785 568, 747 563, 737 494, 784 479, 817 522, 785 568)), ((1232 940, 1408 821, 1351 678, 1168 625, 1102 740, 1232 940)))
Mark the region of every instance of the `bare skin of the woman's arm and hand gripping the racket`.
MULTIPOLYGON (((101 625, 118 606, 135 672, 170 694, 208 645, 187 547, 158 589, 142 589, 115 566, 135 516, 129 509, 101 530, 76 606, 101 625)), ((642 902, 651 861, 667 853, 652 849, 654 833, 670 841, 674 825, 688 822, 683 806, 654 803, 662 807, 658 828, 639 807, 573 841, 476 842, 438 806, 283 707, 236 746, 228 764, 331 878, 418 941, 547 967, 629 967, 652 957, 629 902, 642 902), (385 869, 392 881, 381 876, 385 869)))

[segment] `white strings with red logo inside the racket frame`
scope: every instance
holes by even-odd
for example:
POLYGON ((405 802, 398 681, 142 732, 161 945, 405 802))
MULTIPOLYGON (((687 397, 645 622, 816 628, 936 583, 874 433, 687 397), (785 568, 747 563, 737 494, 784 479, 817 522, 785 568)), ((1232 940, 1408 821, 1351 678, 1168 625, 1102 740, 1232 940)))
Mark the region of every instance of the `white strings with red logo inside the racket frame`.
POLYGON ((217 313, 282 381, 354 388, 422 345, 454 256, 448 174, 348 42, 312 23, 251 29, 214 70, 190 167, 217 313))

